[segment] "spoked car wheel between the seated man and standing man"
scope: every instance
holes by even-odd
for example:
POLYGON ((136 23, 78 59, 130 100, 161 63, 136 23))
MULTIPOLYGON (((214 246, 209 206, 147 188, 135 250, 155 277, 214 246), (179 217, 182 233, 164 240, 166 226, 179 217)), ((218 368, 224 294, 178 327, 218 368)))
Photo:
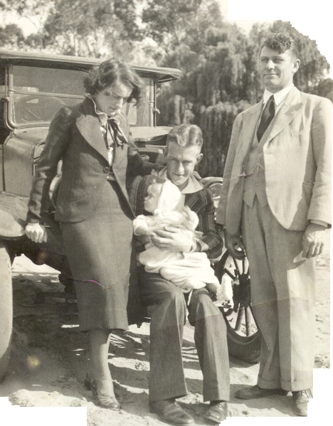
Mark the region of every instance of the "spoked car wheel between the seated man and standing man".
POLYGON ((228 251, 218 261, 215 273, 221 282, 224 274, 233 279, 233 300, 235 307, 221 307, 227 326, 229 355, 241 361, 255 363, 260 358, 261 333, 250 307, 250 273, 248 260, 236 260, 228 251), (237 291, 236 286, 239 286, 237 291), (236 299, 240 294, 240 300, 236 299), (239 307, 237 304, 239 302, 239 307))

